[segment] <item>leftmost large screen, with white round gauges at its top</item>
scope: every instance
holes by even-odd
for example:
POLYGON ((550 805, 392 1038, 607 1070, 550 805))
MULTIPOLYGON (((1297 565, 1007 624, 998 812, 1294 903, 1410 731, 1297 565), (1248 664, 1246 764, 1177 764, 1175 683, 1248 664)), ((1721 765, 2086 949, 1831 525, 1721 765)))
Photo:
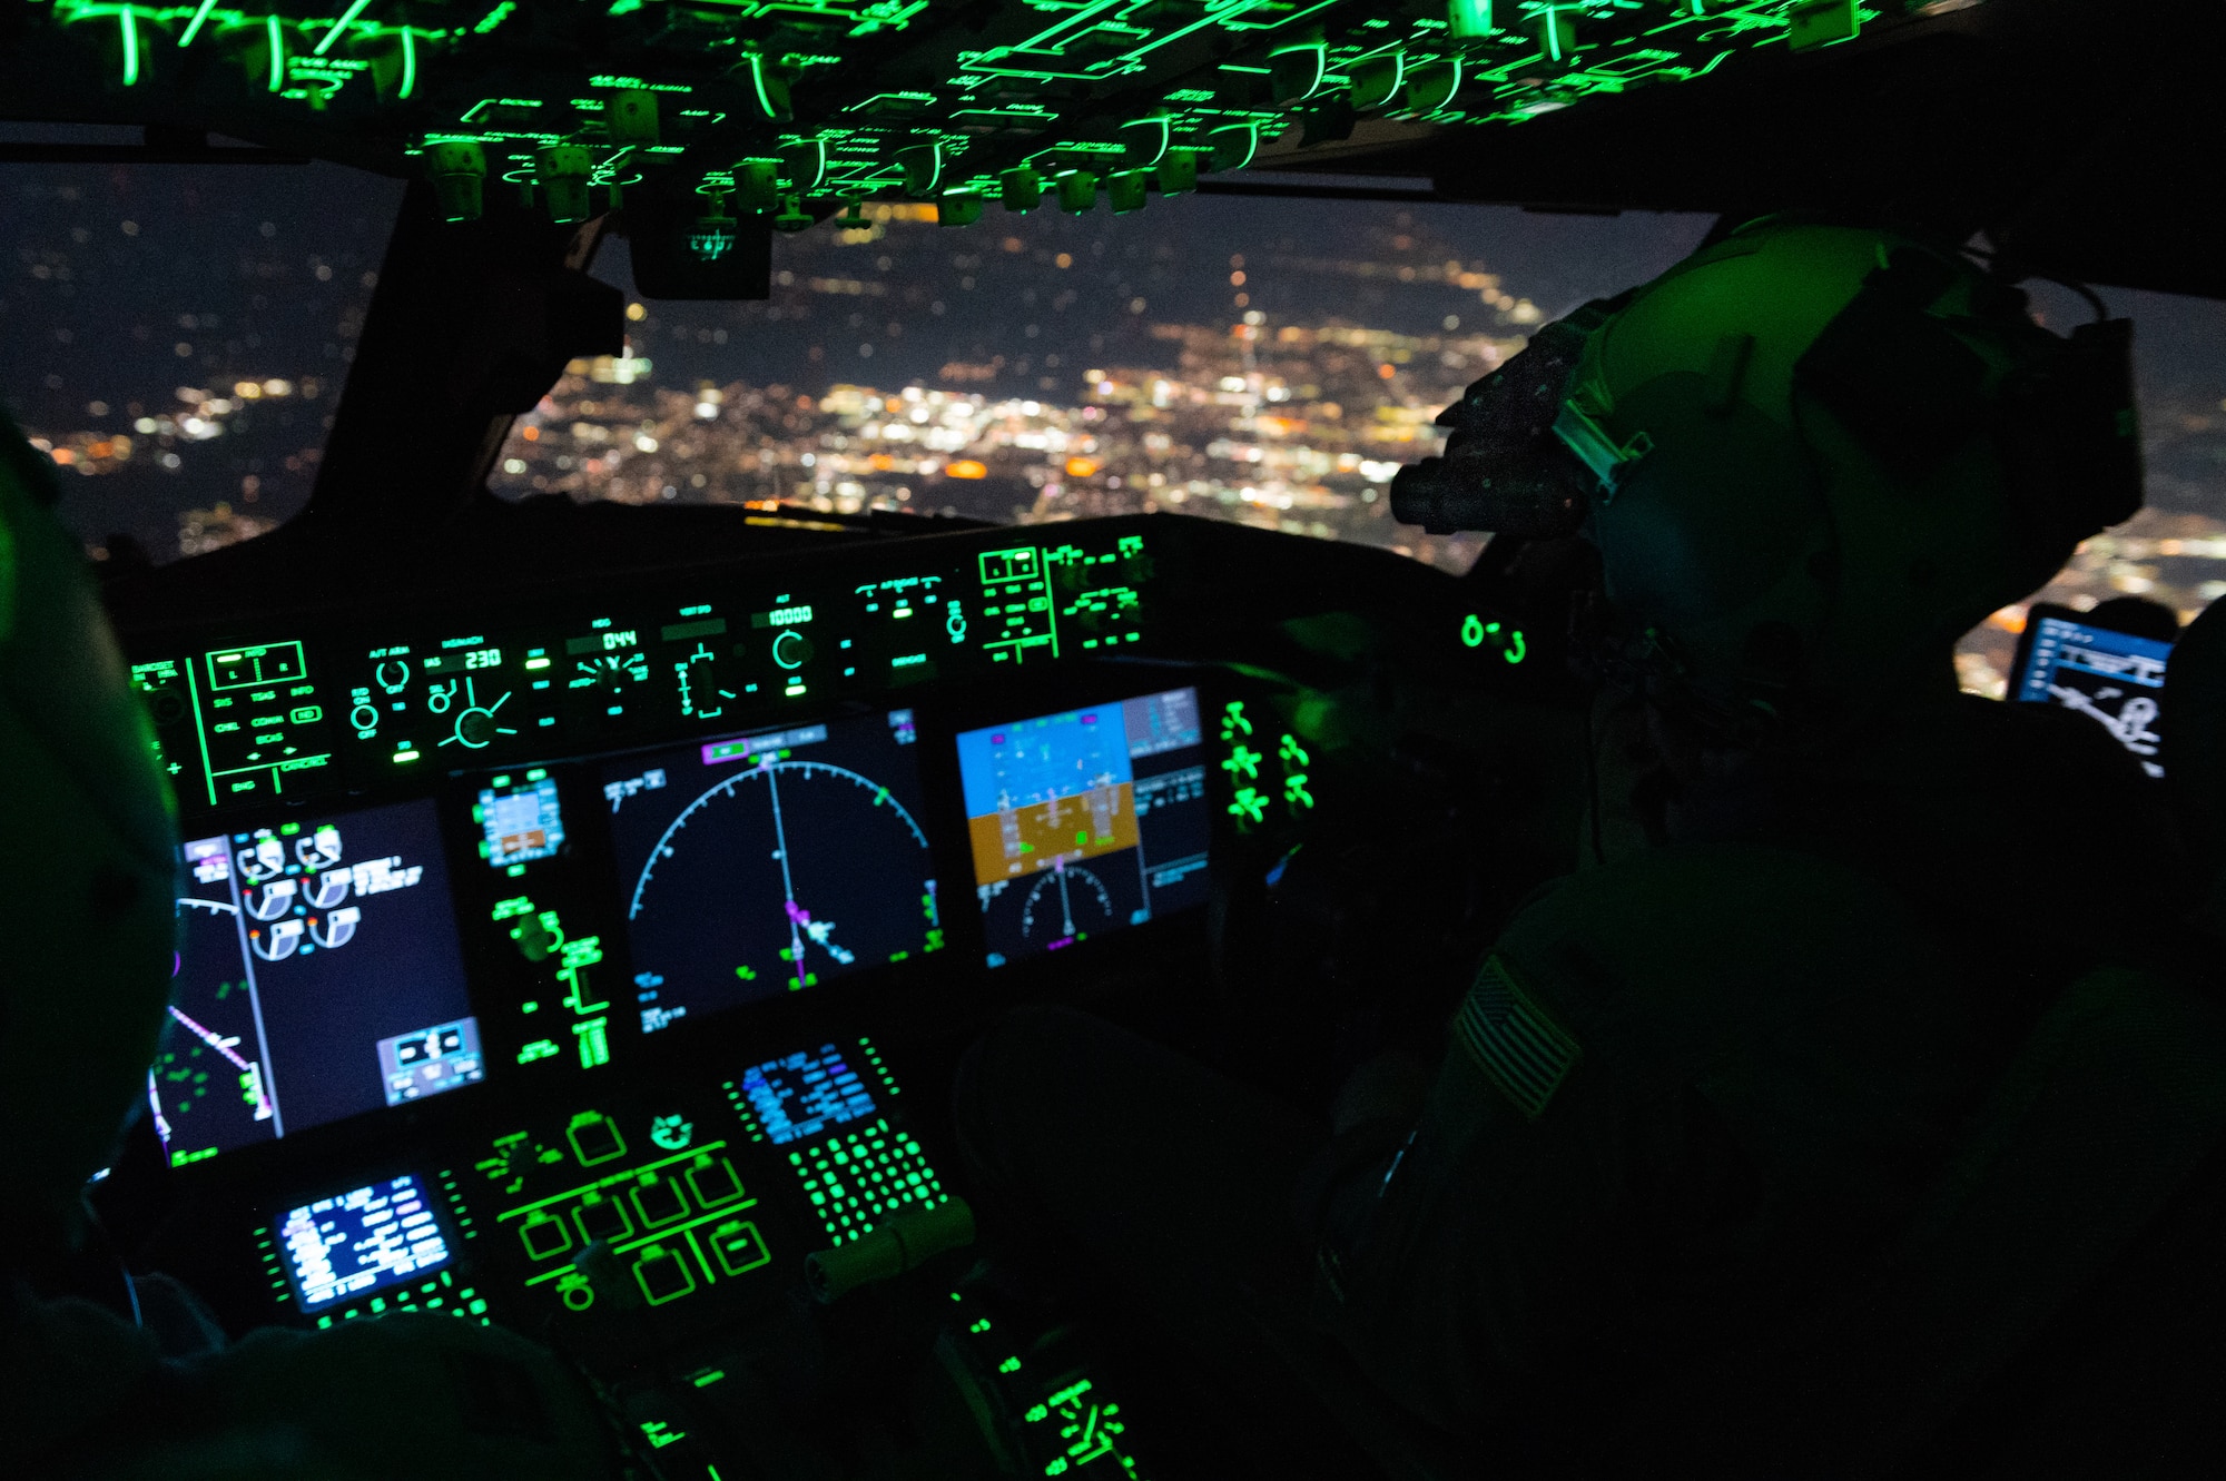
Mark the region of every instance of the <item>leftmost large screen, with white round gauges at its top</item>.
POLYGON ((147 1076, 174 1165, 483 1079, 432 801, 180 852, 147 1076))

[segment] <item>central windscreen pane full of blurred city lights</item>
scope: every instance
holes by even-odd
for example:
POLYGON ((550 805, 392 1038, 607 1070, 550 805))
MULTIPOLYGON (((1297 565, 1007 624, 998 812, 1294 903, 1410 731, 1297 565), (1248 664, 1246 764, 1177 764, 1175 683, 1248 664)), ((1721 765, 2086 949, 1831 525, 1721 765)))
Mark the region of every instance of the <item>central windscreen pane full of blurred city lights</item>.
POLYGON ((779 236, 766 302, 643 300, 605 240, 628 349, 519 420, 494 489, 999 525, 1169 509, 1467 569, 1483 536, 1396 525, 1391 476, 1536 325, 1707 229, 1231 196, 855 220, 779 236))

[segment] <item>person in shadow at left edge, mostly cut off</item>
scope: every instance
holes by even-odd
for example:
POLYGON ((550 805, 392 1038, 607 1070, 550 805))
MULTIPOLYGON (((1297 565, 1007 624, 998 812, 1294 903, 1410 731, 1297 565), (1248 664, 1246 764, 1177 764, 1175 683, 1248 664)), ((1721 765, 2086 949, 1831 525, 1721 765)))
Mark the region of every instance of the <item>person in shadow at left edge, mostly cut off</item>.
MULTIPOLYGON (((605 1477, 581 1381, 510 1332, 392 1316, 227 1343, 174 1283, 69 1294, 85 1187, 145 1110, 176 827, 53 465, 0 418, 0 1434, 24 1477, 605 1477), (98 1294, 98 1292, 96 1292, 98 1294), (118 1310, 120 1308, 120 1310, 118 1310), (122 1314, 129 1312, 138 1316, 122 1314)), ((85 1281, 76 1281, 85 1285, 85 1281)))

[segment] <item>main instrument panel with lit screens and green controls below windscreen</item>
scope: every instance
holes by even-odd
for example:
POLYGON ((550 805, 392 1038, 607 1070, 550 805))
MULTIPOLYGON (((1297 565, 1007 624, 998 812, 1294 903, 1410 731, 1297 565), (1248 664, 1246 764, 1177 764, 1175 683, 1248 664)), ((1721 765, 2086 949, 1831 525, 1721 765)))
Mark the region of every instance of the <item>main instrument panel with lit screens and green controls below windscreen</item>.
MULTIPOLYGON (((1202 905, 1316 807, 1324 700, 1231 649, 1373 605, 1420 663, 1518 672, 1447 578, 1307 540, 1253 569, 1258 538, 1144 516, 127 620, 183 836, 138 1163, 169 1212, 134 1248, 238 1328, 450 1312, 688 1392, 752 1345, 875 1361, 797 1316, 806 1256, 964 1219, 959 1050, 1044 972, 1202 985, 1202 905)), ((1135 1474, 1062 1316, 1024 1343, 1008 1294, 930 1294, 979 1310, 937 1372, 997 1443, 1135 1474)), ((681 1454, 695 1421, 646 1414, 681 1454)))

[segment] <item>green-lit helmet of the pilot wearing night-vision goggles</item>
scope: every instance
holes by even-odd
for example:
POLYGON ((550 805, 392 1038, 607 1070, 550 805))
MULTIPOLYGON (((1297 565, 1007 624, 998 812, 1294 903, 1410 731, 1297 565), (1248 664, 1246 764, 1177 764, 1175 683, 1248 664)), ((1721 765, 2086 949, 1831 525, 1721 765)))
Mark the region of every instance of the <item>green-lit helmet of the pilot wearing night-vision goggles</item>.
POLYGON ((1609 603, 1694 687, 1868 707, 2139 509, 2128 345, 1941 242, 1765 220, 1585 338, 1554 434, 1609 603))

